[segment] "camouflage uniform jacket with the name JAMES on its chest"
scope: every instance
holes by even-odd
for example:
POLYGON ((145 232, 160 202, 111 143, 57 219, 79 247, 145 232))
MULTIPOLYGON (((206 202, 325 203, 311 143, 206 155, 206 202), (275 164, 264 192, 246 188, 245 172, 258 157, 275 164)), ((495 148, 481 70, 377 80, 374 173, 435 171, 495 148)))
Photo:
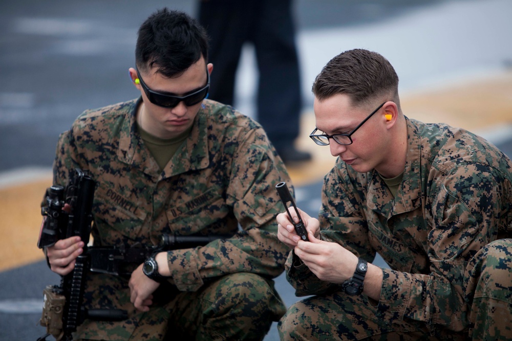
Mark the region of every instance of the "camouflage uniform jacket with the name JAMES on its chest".
MULTIPOLYGON (((357 173, 338 158, 324 179, 321 236, 368 261, 377 252, 390 265, 376 308, 382 320, 460 330, 471 300, 463 295, 468 262, 512 235, 512 162, 465 130, 406 121, 409 148, 396 197, 376 171, 357 173)), ((340 290, 292 255, 287 277, 297 295, 340 290)))

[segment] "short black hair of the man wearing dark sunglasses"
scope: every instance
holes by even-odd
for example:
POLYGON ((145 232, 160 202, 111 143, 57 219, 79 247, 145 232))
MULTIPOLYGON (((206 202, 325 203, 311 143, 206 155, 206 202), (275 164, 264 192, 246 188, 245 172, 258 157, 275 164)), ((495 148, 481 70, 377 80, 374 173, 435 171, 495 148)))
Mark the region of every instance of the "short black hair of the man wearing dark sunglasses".
POLYGON ((176 77, 201 56, 208 62, 208 36, 199 22, 186 13, 163 8, 139 28, 135 63, 141 71, 157 67, 157 73, 176 77))

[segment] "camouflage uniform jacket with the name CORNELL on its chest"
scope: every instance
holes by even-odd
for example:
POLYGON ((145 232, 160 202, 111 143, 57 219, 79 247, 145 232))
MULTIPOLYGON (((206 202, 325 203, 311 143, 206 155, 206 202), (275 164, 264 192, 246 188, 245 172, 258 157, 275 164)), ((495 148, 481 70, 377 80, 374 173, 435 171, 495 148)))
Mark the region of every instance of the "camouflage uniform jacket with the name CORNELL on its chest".
POLYGON ((97 182, 94 245, 156 245, 162 234, 229 234, 170 251, 171 282, 196 291, 203 279, 234 272, 279 276, 289 250, 276 236, 275 216, 283 206, 274 186, 291 184, 261 126, 205 100, 190 136, 160 171, 137 132, 136 104, 85 111, 59 138, 54 184, 65 185, 76 167, 97 182))

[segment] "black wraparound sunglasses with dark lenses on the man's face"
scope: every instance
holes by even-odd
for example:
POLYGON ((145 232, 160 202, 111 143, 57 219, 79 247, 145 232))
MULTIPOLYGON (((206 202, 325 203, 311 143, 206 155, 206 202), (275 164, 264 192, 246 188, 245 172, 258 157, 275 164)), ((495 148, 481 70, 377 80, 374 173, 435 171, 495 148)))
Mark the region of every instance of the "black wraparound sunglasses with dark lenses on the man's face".
POLYGON ((146 83, 144 83, 142 77, 140 77, 139 70, 135 70, 137 71, 137 76, 139 77, 140 85, 142 85, 142 89, 144 90, 147 99, 155 105, 164 108, 174 108, 181 101, 183 101, 186 106, 192 106, 204 100, 208 95, 208 90, 210 88, 210 74, 208 73, 208 70, 206 70, 206 75, 208 77, 206 85, 200 89, 192 90, 188 94, 185 94, 185 96, 176 96, 170 93, 163 94, 150 89, 146 85, 146 83))

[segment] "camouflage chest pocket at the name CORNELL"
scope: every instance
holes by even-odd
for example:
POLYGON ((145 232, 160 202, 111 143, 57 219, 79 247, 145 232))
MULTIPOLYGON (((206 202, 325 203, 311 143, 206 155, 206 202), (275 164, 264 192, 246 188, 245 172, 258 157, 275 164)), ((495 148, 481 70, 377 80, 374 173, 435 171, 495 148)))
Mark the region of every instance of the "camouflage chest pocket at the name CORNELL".
POLYGON ((138 202, 100 185, 94 194, 94 221, 102 244, 117 245, 122 239, 135 239, 147 213, 138 202))

